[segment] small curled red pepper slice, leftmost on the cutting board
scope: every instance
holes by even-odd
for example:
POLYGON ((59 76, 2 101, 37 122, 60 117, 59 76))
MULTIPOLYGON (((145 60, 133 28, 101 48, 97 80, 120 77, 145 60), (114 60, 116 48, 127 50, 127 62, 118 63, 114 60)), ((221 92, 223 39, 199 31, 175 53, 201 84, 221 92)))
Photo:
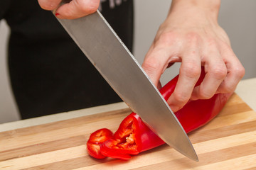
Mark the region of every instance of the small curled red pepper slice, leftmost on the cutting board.
POLYGON ((110 140, 112 137, 113 133, 106 128, 93 132, 87 141, 87 152, 97 159, 105 158, 105 156, 100 152, 100 145, 107 140, 110 140))

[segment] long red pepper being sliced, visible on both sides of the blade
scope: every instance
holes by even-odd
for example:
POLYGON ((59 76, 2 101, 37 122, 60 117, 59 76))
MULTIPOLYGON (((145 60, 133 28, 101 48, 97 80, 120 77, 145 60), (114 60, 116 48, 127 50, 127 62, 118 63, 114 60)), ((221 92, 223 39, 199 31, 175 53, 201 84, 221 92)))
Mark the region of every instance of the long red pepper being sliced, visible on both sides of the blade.
MULTIPOLYGON (((201 77, 198 79, 196 86, 201 84, 204 76, 205 73, 202 69, 201 77)), ((177 81, 178 76, 169 81, 169 83, 160 90, 160 93, 166 100, 174 92, 177 81)), ((184 130, 187 133, 191 132, 208 123, 215 117, 215 115, 218 115, 230 96, 231 94, 215 94, 208 100, 188 101, 188 103, 186 103, 181 110, 177 111, 175 115, 184 130)), ((88 142, 91 141, 91 137, 88 142)), ((100 147, 97 147, 97 149, 99 149, 97 150, 97 153, 100 153, 105 157, 129 159, 132 155, 139 154, 140 152, 163 144, 164 141, 143 123, 139 115, 131 113, 127 118, 124 118, 119 125, 117 132, 115 132, 109 140, 101 142, 98 145, 100 147)), ((87 145, 87 147, 90 147, 90 145, 87 145)), ((95 154, 90 155, 95 157, 95 154)))

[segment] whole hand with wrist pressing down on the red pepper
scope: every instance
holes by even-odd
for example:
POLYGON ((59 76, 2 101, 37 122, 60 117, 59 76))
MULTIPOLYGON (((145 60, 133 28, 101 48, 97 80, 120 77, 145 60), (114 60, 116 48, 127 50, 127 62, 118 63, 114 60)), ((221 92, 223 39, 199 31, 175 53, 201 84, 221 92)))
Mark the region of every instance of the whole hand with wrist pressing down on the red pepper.
POLYGON ((176 89, 167 101, 174 112, 189 99, 207 99, 235 90, 245 69, 230 47, 225 31, 218 26, 220 1, 174 0, 166 21, 147 52, 142 67, 158 88, 170 64, 181 62, 176 89), (206 77, 194 88, 204 66, 206 77))

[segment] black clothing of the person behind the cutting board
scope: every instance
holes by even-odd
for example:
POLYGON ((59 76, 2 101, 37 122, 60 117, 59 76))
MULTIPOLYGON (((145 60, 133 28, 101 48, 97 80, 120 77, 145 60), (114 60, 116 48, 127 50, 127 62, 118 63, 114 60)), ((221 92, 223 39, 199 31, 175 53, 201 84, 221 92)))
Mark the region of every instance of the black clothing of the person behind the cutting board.
MULTIPOLYGON (((102 14, 132 50, 133 3, 102 14)), ((1 0, 0 19, 11 28, 9 74, 21 118, 121 101, 50 11, 36 0, 1 0)))

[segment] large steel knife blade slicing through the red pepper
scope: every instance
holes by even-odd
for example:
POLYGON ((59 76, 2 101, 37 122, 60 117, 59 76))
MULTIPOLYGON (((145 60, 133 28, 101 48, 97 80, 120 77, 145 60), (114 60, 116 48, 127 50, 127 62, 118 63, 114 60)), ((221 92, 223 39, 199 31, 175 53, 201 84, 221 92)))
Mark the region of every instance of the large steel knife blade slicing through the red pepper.
POLYGON ((132 111, 169 146, 198 162, 196 151, 173 111, 100 11, 58 21, 132 111))

